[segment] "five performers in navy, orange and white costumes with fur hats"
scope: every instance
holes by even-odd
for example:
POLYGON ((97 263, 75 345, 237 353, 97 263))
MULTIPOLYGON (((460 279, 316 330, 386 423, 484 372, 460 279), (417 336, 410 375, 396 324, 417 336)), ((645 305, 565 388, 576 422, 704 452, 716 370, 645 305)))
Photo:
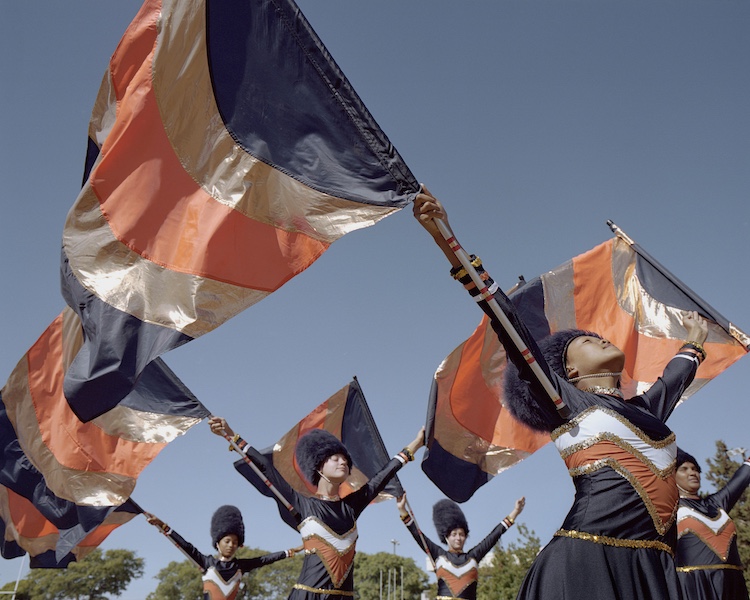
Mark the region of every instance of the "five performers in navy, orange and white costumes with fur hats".
MULTIPOLYGON (((450 261, 453 277, 476 296, 473 280, 438 229, 436 219, 448 223, 442 204, 424 189, 415 200, 414 215, 450 261)), ((648 391, 626 399, 619 387, 625 365, 619 348, 596 332, 582 330, 560 331, 537 342, 481 261, 473 264, 566 407, 561 411, 553 404, 530 366, 533 361, 517 350, 504 327, 496 326, 510 361, 505 382, 508 408, 520 422, 550 434, 576 492, 560 529, 528 570, 518 599, 747 599, 736 531, 727 513, 750 484, 750 461, 723 489, 702 497, 700 466, 677 448, 675 434, 666 425, 705 359, 705 320, 686 313, 685 344, 648 391)), ((479 304, 493 318, 487 300, 479 304)), ((306 496, 294 490, 224 418, 212 417, 209 425, 213 433, 232 438, 235 450, 260 469, 298 513, 302 546, 252 559, 235 558, 244 543, 244 525, 235 507, 224 506, 211 522, 218 554, 207 556, 148 515, 200 566, 204 598, 231 600, 243 573, 297 552, 304 553, 304 561, 290 600, 355 597, 357 518, 399 469, 414 460, 424 445, 424 429, 366 485, 341 497, 339 488, 350 474, 352 459, 331 433, 312 430, 297 443, 297 464, 315 488, 313 496, 306 496)), ((479 561, 514 524, 524 505, 524 498, 517 500, 492 532, 465 551, 469 527, 457 504, 441 500, 433 509, 444 548, 417 528, 405 495, 398 499, 404 524, 435 564, 439 600, 476 599, 479 561)))

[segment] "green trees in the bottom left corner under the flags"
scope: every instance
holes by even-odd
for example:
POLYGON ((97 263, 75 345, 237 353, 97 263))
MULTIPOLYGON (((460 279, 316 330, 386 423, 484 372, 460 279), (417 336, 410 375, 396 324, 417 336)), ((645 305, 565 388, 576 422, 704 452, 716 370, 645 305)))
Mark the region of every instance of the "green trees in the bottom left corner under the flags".
MULTIPOLYGON (((18 586, 18 600, 106 600, 143 576, 143 559, 130 550, 93 550, 67 569, 32 569, 18 586)), ((15 583, 6 584, 11 591, 15 583)))

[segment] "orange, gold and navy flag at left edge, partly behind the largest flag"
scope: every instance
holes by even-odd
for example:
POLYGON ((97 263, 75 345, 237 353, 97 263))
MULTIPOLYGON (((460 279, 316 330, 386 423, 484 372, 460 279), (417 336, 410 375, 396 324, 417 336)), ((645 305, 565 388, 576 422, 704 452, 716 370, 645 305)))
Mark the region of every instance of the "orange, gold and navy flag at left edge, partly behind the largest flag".
POLYGON ((115 408, 80 421, 63 379, 82 343, 80 320, 66 308, 16 365, 0 399, 23 454, 56 496, 76 505, 118 506, 162 448, 209 413, 157 359, 115 408))

